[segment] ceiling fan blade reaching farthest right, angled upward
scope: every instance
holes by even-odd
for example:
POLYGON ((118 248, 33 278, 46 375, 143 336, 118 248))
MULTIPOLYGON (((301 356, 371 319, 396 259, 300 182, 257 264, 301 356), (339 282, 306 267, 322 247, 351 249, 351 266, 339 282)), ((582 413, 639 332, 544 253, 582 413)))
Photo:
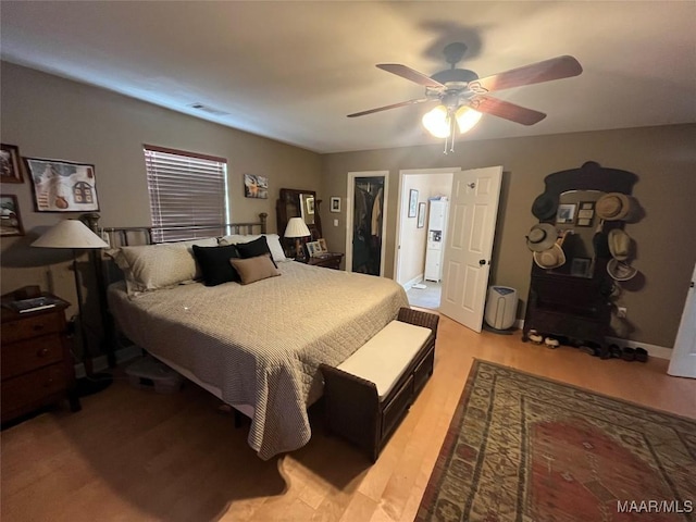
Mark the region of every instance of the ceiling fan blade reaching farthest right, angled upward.
POLYGON ((469 89, 476 94, 485 94, 523 85, 540 84, 552 79, 569 78, 577 76, 582 72, 583 67, 573 57, 558 57, 475 79, 469 83, 469 89))

